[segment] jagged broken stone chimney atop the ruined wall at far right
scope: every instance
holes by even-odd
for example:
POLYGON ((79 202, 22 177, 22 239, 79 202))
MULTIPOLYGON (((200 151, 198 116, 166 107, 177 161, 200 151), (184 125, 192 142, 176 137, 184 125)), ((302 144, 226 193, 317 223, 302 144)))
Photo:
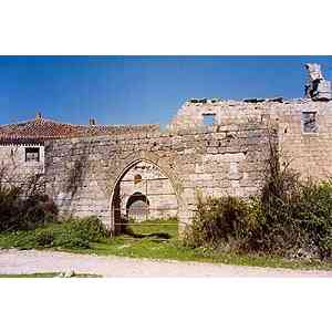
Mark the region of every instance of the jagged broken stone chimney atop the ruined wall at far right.
POLYGON ((318 63, 307 63, 308 81, 304 85, 304 97, 313 101, 331 101, 331 82, 326 81, 318 63))

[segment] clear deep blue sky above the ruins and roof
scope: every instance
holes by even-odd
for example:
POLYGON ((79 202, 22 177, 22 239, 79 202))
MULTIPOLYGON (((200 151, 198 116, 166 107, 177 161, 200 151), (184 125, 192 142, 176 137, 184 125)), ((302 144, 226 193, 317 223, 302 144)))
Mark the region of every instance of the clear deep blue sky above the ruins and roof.
POLYGON ((0 56, 0 123, 43 116, 166 124, 191 97, 301 97, 305 62, 332 56, 0 56))

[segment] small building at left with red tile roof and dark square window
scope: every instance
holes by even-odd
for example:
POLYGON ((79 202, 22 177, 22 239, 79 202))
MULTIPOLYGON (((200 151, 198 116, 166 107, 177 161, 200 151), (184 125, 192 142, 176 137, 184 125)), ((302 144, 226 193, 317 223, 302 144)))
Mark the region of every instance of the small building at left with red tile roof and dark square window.
POLYGON ((44 174, 46 141, 115 135, 118 133, 154 129, 154 125, 89 125, 60 123, 45 118, 40 112, 29 121, 0 125, 0 169, 6 169, 9 181, 21 181, 32 174, 44 174))

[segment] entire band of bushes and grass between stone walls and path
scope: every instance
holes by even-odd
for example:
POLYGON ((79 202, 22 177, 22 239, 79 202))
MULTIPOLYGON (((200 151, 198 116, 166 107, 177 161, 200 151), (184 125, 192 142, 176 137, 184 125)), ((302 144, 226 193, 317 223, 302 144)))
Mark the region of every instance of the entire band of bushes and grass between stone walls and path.
POLYGON ((137 222, 108 238, 96 217, 60 219, 54 204, 39 194, 40 178, 13 187, 0 174, 0 248, 332 269, 332 181, 303 180, 281 167, 272 144, 268 162, 256 197, 198 197, 181 240, 176 218, 137 222))

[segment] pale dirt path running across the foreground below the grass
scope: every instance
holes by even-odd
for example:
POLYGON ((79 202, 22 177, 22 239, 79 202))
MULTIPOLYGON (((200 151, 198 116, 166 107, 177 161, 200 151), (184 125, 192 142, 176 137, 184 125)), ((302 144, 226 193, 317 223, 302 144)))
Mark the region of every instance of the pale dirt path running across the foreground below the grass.
POLYGON ((332 277, 332 271, 319 270, 299 271, 200 262, 159 261, 56 251, 0 250, 0 274, 69 270, 105 277, 332 277))

